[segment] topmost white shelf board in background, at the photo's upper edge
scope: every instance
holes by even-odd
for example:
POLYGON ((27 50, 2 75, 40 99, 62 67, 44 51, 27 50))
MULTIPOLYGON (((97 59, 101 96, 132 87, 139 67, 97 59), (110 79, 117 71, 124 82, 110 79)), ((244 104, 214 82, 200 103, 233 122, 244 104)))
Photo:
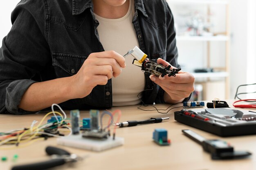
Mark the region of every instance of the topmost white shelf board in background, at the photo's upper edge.
POLYGON ((228 4, 229 0, 166 0, 175 4, 228 4))

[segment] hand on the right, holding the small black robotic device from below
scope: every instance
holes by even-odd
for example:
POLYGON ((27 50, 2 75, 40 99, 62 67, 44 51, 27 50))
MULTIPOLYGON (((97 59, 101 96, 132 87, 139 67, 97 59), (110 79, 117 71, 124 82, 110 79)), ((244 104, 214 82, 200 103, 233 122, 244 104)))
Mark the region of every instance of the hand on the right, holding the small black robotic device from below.
MULTIPOLYGON (((170 65, 162 58, 158 58, 157 63, 164 66, 170 65)), ((171 66, 171 69, 173 68, 175 67, 171 66)), ((167 103, 182 102, 184 98, 189 97, 191 92, 194 91, 195 77, 189 72, 182 72, 181 70, 175 77, 168 77, 168 74, 164 77, 155 75, 150 75, 149 77, 168 94, 164 96, 164 101, 167 103)))

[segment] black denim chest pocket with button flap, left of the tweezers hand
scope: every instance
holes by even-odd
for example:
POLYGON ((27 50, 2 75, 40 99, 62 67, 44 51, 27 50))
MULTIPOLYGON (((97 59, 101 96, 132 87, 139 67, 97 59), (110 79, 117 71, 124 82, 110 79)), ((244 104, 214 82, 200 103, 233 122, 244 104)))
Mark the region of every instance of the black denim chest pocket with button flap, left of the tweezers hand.
POLYGON ((68 77, 76 74, 88 56, 65 53, 52 53, 52 65, 56 78, 68 77))

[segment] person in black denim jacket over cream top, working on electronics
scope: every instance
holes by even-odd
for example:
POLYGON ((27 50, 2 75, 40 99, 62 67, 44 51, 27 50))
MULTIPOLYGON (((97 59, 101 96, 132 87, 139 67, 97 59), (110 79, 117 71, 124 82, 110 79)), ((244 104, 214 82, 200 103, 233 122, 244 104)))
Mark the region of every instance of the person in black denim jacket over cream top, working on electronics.
POLYGON ((21 0, 0 49, 0 113, 177 103, 195 78, 157 77, 123 55, 137 45, 162 65, 177 64, 166 0, 21 0))

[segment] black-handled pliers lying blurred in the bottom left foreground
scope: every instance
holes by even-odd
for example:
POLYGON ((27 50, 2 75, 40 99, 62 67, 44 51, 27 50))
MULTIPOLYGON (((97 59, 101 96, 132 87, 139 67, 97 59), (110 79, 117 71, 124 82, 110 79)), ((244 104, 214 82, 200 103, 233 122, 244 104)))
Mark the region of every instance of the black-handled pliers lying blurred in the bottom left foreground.
POLYGON ((76 154, 70 154, 63 149, 52 146, 45 148, 45 151, 48 155, 52 156, 52 159, 44 162, 13 166, 11 170, 45 170, 55 166, 63 165, 67 162, 76 162, 83 159, 78 157, 76 154))

